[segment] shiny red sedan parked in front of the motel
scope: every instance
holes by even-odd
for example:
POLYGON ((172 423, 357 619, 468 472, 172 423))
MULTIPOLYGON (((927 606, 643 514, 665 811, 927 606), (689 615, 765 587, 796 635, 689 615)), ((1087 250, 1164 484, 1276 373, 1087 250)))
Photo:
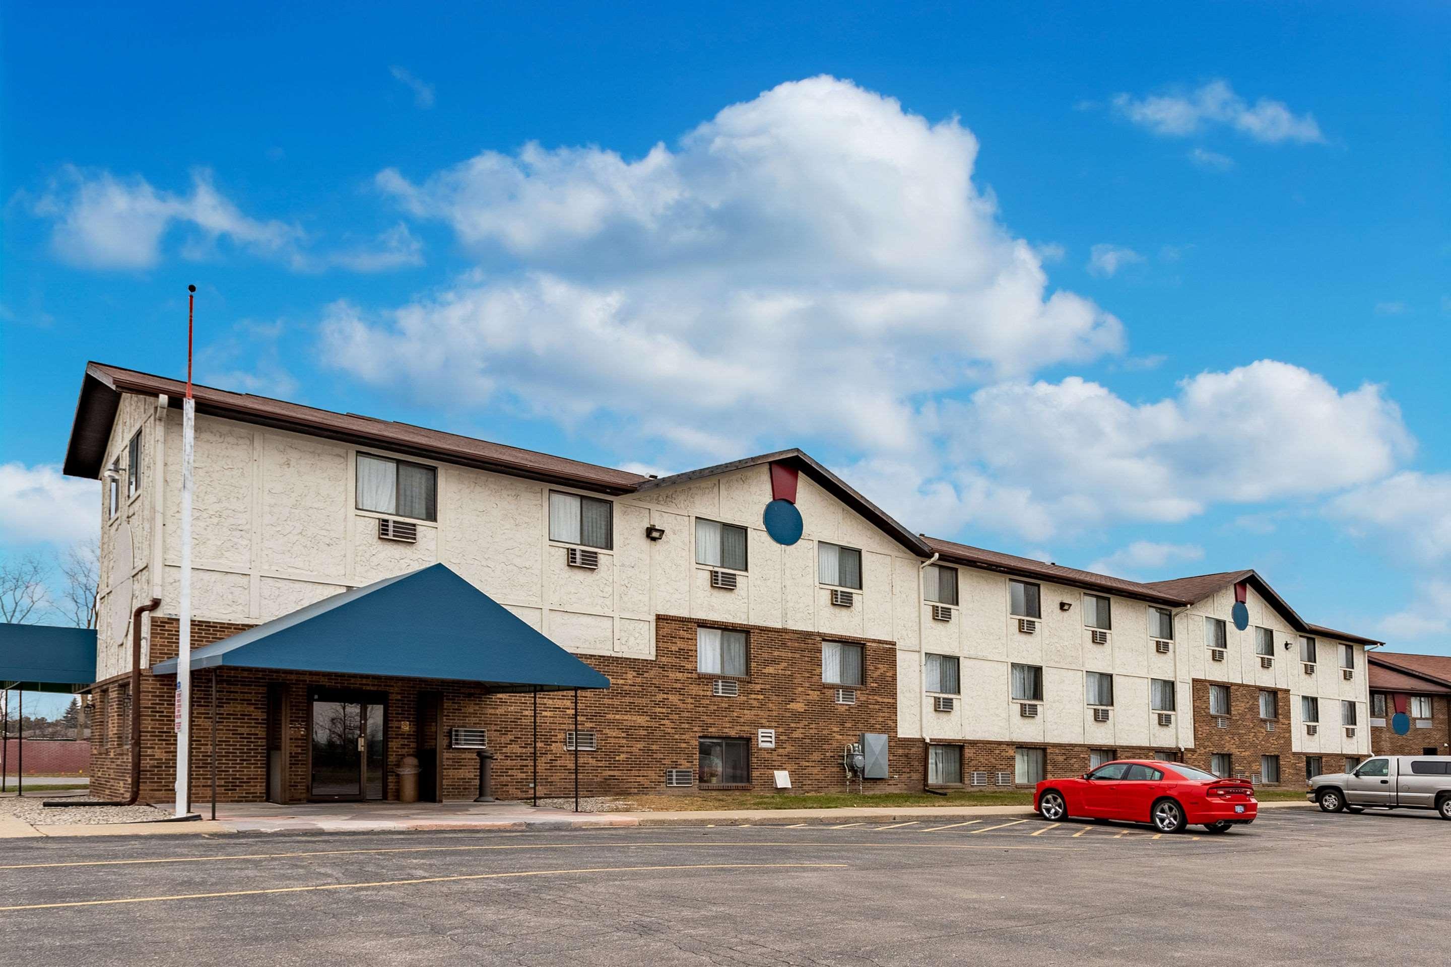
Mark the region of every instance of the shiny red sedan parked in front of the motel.
POLYGON ((1159 832, 1203 823, 1226 832, 1254 822, 1259 812, 1254 786, 1220 779, 1183 763, 1119 760, 1078 779, 1045 779, 1033 793, 1043 819, 1122 819, 1148 822, 1159 832))

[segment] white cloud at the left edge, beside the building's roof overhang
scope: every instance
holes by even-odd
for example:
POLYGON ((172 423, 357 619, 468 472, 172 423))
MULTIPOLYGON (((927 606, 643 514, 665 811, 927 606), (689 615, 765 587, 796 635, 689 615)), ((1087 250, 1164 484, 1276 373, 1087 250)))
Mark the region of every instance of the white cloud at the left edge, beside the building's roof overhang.
POLYGON ((100 529, 100 487, 62 477, 52 464, 0 464, 0 542, 93 542, 100 529))

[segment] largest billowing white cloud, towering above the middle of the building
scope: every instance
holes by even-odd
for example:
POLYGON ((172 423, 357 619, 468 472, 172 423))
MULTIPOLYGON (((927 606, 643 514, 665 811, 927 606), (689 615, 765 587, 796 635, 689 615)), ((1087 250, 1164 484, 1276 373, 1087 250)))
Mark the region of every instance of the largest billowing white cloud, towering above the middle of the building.
POLYGON ((334 304, 342 368, 428 399, 624 416, 679 449, 739 454, 769 428, 874 449, 913 400, 1123 348, 1051 291, 972 183, 978 144, 817 77, 721 110, 670 148, 483 152, 377 184, 480 261, 395 310, 334 304))

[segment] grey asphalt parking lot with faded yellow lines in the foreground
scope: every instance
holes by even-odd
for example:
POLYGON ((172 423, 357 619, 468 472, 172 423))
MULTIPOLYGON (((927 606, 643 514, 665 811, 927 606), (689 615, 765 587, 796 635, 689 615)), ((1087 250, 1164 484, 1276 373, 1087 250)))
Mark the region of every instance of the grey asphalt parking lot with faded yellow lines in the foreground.
POLYGON ((1451 963, 1451 823, 972 822, 23 839, 19 964, 1451 963), (1409 954, 1407 954, 1409 955, 1409 954))

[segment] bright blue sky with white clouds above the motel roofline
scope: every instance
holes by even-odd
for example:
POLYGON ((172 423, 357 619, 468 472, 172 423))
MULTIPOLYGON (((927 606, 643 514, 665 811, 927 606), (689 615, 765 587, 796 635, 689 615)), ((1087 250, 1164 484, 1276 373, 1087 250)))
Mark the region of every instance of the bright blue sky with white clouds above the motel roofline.
POLYGON ((196 283, 202 381, 1451 652, 1444 7, 315 6, 7 4, 6 554, 196 283))

